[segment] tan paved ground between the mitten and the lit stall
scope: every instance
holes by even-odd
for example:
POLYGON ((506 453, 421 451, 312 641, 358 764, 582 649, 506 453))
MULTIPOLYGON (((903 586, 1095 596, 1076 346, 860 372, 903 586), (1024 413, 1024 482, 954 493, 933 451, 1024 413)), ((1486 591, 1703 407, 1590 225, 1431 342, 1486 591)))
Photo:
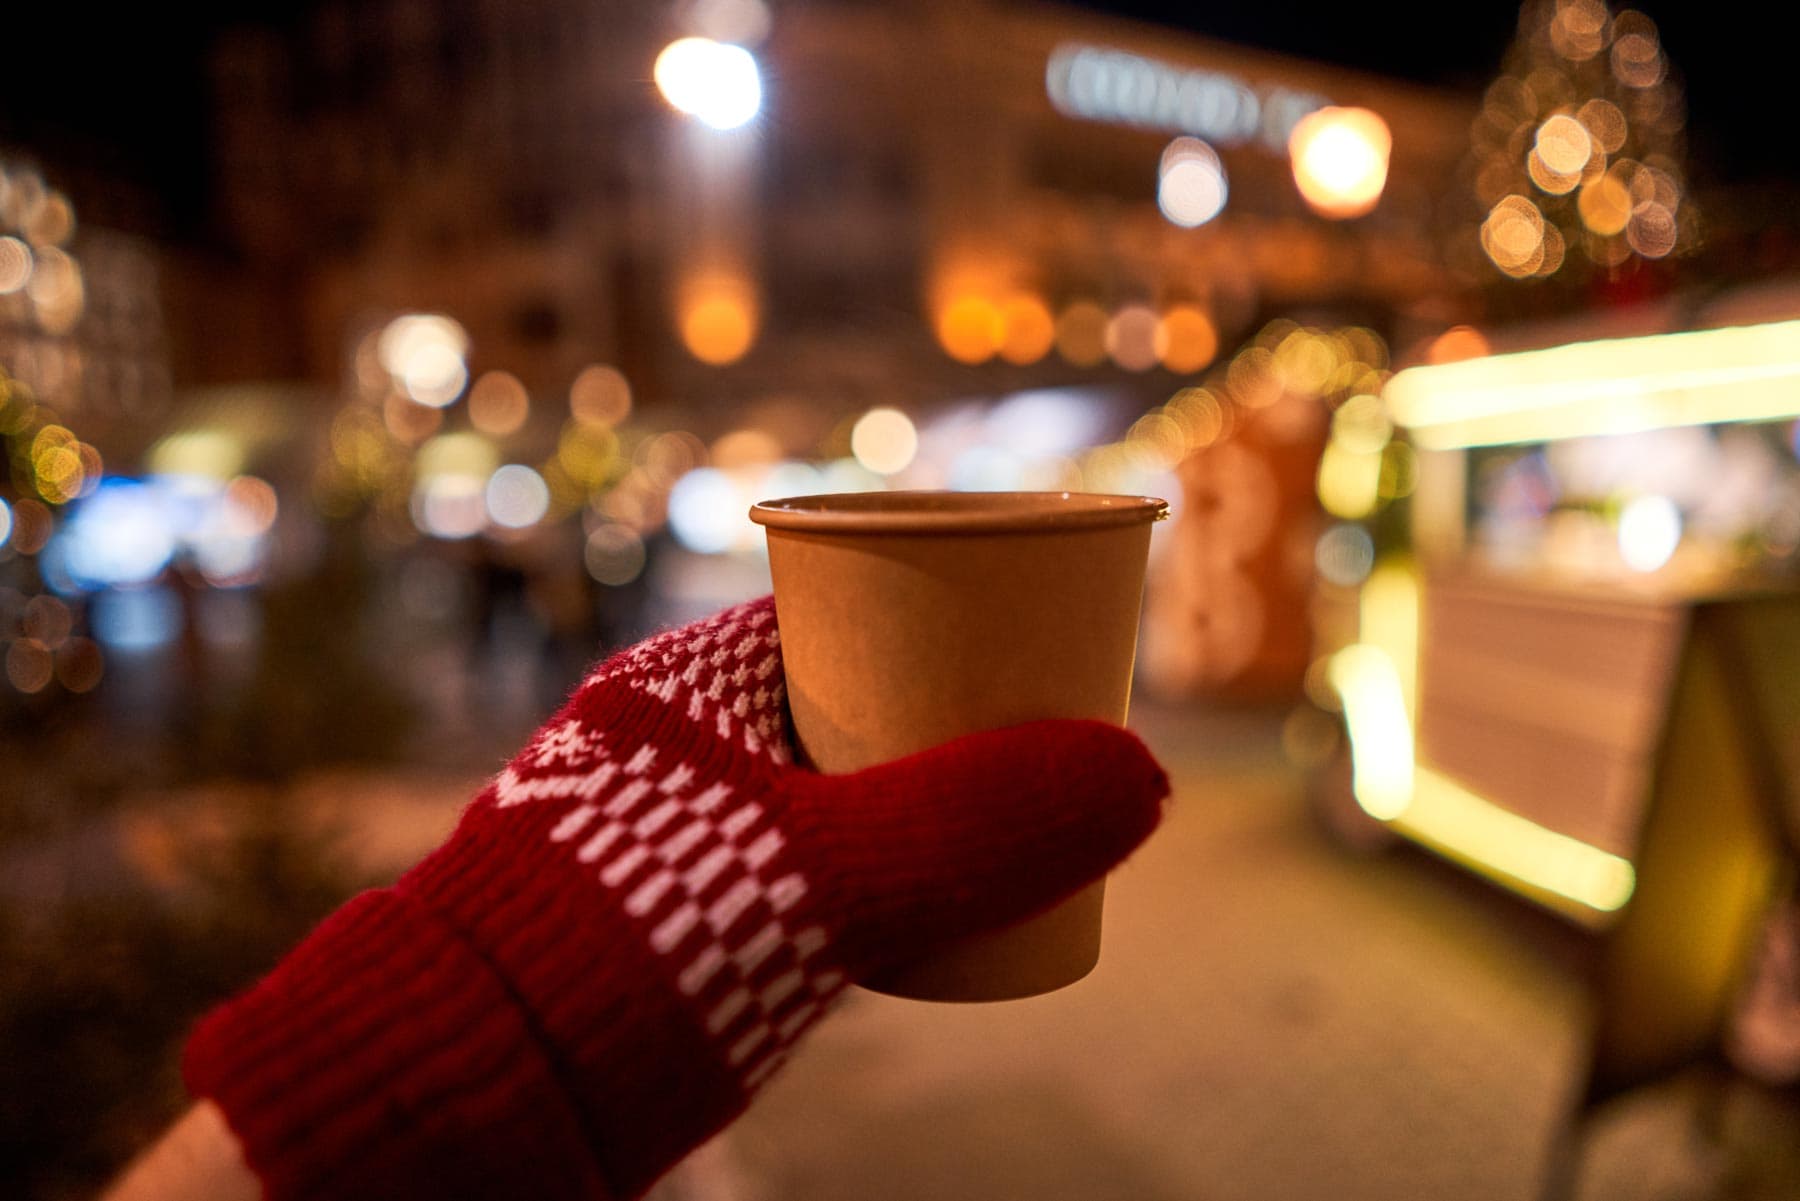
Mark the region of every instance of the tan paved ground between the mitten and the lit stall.
MULTIPOLYGON (((1112 880, 1096 972, 1031 1001, 857 992, 668 1201, 1539 1196, 1582 1055, 1580 940, 1310 819, 1273 720, 1139 713, 1168 825, 1112 880)), ((1580 1197, 1796 1197, 1791 1104, 1624 1104, 1580 1197)))

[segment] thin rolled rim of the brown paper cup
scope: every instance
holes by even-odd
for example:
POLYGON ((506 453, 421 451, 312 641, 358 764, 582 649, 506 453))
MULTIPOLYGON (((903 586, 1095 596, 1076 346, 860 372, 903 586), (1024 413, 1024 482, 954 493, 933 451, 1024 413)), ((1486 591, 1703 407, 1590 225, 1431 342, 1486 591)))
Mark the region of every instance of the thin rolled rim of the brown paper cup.
POLYGON ((751 520, 803 533, 1049 533, 1159 522, 1168 501, 1105 492, 833 492, 751 506, 751 520))

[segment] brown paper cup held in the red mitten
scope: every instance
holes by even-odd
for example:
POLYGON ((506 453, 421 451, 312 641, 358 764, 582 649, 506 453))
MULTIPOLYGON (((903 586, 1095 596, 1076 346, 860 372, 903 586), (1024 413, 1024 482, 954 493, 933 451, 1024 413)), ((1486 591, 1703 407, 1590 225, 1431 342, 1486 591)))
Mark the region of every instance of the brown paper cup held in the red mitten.
MULTIPOLYGON (((819 771, 896 760, 1046 717, 1125 724, 1152 497, 871 492, 767 501, 781 659, 819 771)), ((968 798, 979 805, 981 798, 968 798)), ((997 1001, 1100 958, 1103 882, 866 987, 997 1001)))

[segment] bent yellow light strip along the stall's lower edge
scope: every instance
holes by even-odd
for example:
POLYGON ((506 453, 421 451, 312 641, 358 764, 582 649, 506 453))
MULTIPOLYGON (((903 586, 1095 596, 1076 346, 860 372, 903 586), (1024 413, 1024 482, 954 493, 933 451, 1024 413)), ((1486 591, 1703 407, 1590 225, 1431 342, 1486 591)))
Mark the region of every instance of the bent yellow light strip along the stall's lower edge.
POLYGON ((1636 888, 1627 859, 1548 830, 1447 776, 1418 765, 1399 668, 1377 646, 1357 643, 1332 655, 1332 688, 1350 731, 1352 792, 1377 821, 1390 823, 1485 875, 1575 917, 1613 913, 1636 888))

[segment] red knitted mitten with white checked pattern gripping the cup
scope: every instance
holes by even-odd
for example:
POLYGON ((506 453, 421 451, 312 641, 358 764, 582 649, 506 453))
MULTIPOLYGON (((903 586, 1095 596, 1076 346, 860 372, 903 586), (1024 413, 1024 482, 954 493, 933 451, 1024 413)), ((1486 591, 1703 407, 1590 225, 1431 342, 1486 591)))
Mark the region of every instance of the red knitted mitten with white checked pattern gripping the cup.
POLYGON ((823 776, 781 697, 767 598, 617 654, 441 848, 211 1014, 187 1082, 266 1196, 635 1197, 846 981, 1048 909, 1168 790, 1067 720, 823 776))

